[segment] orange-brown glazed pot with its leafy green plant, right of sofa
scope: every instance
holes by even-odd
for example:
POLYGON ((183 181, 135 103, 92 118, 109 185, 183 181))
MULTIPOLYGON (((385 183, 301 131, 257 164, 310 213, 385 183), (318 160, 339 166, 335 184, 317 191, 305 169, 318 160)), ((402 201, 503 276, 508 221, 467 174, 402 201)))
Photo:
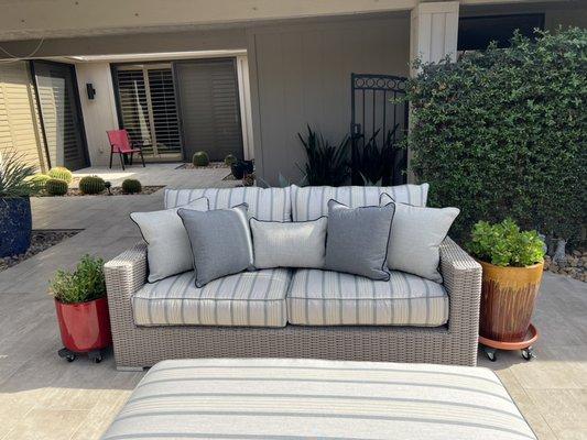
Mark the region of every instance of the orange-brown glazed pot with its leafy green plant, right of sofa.
POLYGON ((524 341, 544 266, 539 233, 520 231, 511 219, 480 221, 467 249, 483 271, 479 334, 492 341, 524 341))

